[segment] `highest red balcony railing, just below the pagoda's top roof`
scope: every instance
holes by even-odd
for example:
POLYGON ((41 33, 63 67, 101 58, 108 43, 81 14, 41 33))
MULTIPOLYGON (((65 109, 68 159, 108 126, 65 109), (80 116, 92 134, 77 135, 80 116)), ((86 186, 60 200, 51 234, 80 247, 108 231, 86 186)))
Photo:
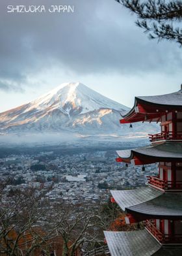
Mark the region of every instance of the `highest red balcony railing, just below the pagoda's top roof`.
POLYGON ((182 132, 162 132, 155 135, 148 135, 150 142, 157 142, 160 140, 182 140, 182 132))

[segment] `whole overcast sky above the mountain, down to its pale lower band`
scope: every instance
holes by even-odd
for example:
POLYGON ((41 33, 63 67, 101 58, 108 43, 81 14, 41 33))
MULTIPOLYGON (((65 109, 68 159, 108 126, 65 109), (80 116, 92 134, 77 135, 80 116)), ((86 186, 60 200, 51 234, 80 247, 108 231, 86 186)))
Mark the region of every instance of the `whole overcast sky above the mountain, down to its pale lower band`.
POLYGON ((182 83, 181 48, 149 40, 114 0, 2 0, 0 112, 63 82, 82 82, 127 106, 182 83), (74 13, 7 13, 7 5, 74 5, 74 13))

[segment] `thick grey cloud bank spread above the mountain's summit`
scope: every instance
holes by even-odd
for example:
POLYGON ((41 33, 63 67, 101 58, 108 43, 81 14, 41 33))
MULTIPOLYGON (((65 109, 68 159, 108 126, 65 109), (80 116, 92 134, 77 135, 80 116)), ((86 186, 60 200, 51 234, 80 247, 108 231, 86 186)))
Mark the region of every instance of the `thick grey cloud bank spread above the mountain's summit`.
MULTIPOLYGON (((65 1, 27 0, 26 5, 61 5, 65 1)), ((170 42, 157 44, 135 26, 135 16, 114 0, 66 1, 73 14, 9 14, 0 3, 0 89, 31 86, 47 69, 76 74, 140 74, 176 72, 181 50, 170 42), (4 81, 4 82, 3 82, 4 81)))

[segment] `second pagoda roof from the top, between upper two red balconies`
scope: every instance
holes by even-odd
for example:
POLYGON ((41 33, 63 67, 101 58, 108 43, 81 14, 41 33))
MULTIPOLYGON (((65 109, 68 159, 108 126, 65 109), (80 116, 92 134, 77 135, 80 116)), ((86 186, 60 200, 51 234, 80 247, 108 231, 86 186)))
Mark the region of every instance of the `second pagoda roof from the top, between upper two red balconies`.
MULTIPOLYGON (((182 161, 182 143, 164 142, 162 144, 149 145, 132 150, 118 150, 116 153, 123 161, 140 159, 145 162, 149 157, 152 157, 153 163, 162 159, 166 161, 168 159, 182 161)), ((142 163, 139 164, 141 165, 142 163)))

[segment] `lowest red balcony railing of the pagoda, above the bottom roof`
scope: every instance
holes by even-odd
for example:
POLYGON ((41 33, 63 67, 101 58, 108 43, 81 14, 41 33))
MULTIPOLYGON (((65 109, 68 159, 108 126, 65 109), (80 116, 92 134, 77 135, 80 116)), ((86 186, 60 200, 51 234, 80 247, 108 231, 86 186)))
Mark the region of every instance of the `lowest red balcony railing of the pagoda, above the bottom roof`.
POLYGON ((146 229, 157 238, 161 244, 181 244, 182 234, 163 234, 152 221, 146 220, 146 229))

